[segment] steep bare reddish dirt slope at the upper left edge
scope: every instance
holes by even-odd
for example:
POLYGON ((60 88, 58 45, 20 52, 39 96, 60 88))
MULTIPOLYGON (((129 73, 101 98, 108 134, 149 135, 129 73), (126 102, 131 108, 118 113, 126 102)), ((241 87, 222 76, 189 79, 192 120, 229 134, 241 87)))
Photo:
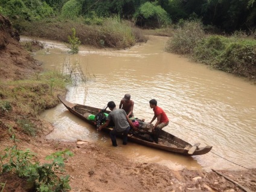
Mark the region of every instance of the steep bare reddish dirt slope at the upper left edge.
POLYGON ((39 70, 38 62, 19 44, 19 34, 0 14, 0 80, 18 80, 39 70))

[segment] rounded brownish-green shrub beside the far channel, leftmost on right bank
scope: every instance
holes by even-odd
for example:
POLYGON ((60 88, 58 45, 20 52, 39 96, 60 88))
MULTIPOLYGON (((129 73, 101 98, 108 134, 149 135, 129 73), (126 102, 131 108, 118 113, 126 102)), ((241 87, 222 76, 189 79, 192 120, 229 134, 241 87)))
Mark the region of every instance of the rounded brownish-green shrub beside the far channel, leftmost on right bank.
POLYGON ((181 27, 173 32, 173 37, 167 41, 165 50, 177 54, 191 54, 197 43, 199 43, 205 33, 202 23, 199 21, 185 21, 181 27))

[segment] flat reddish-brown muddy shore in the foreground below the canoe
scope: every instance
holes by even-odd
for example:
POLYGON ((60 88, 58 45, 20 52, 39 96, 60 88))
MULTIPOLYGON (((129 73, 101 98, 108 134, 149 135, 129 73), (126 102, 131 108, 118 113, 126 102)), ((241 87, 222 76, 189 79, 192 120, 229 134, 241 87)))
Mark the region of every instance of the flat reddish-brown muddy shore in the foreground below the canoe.
MULTIPOLYGON (((89 142, 48 141, 44 136, 20 144, 37 153, 39 161, 50 153, 69 149, 74 156, 65 161, 71 191, 243 191, 213 171, 174 171, 159 164, 136 163, 117 155, 115 150, 89 142)), ((109 143, 110 145, 110 143, 109 143)), ((1 145, 2 146, 2 145, 1 145)), ((243 187, 256 190, 256 170, 219 170, 243 187)), ((5 191, 25 191, 25 182, 1 176, 5 191), (6 179, 6 180, 5 180, 6 179)))

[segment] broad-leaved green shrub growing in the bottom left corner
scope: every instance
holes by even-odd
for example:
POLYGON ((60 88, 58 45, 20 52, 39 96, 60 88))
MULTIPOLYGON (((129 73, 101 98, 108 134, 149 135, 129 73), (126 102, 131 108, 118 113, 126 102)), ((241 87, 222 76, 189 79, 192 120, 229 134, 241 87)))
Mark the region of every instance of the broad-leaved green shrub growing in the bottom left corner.
MULTIPOLYGON (((12 132, 12 130, 10 130, 12 132)), ((12 132, 13 133, 13 132, 12 132)), ((11 136, 13 147, 7 147, 0 156, 0 173, 13 172, 21 178, 27 178, 32 184, 30 191, 68 191, 70 190, 69 175, 58 176, 56 173, 64 173, 64 161, 73 154, 69 150, 56 152, 46 156, 50 161, 40 165, 35 161, 36 155, 29 149, 19 150, 15 134, 11 136), (35 162, 33 162, 35 161, 35 162)))

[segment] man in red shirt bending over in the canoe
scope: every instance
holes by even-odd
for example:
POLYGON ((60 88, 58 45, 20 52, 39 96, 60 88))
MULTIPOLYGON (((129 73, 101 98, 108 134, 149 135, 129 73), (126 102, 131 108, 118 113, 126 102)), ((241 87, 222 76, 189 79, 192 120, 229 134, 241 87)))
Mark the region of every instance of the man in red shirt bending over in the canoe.
POLYGON ((152 124, 152 122, 155 121, 155 119, 157 120, 155 126, 152 129, 153 139, 156 143, 158 143, 160 129, 167 126, 169 123, 168 117, 165 114, 164 110, 162 110, 157 105, 158 102, 155 99, 149 101, 149 106, 150 108, 153 108, 154 111, 154 117, 150 121, 150 124, 152 124))

